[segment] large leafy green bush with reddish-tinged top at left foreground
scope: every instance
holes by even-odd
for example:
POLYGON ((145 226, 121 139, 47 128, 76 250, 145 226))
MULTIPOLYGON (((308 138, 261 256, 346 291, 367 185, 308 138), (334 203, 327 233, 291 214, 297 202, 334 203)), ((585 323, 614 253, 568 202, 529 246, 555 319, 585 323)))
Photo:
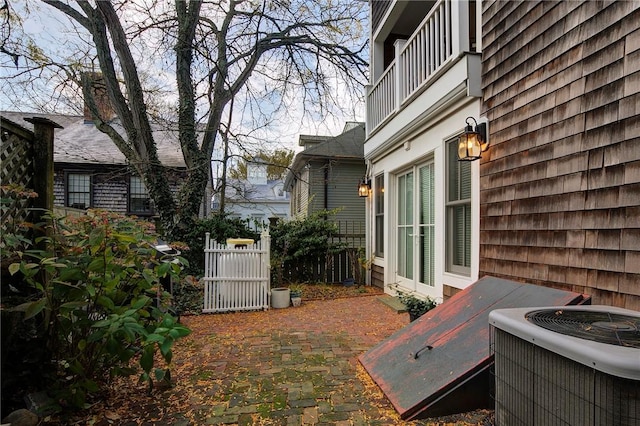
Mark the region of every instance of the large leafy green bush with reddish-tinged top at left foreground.
POLYGON ((35 245, 2 241, 18 259, 9 272, 33 290, 13 310, 35 321, 44 338, 52 372, 45 384, 60 409, 84 407, 115 375, 139 372, 150 389, 170 381, 172 345, 189 333, 162 303, 168 294, 160 278, 177 276, 180 266, 158 257, 152 225, 91 213, 50 216, 35 245), (157 353, 164 368, 156 367, 157 353))

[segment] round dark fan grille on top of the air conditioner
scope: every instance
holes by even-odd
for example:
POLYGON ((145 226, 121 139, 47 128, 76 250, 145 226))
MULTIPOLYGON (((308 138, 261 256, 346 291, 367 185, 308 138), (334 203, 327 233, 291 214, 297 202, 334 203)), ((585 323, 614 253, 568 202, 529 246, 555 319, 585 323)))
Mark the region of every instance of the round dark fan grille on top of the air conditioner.
POLYGON ((526 314, 531 323, 567 336, 640 349, 640 319, 586 310, 542 309, 526 314))

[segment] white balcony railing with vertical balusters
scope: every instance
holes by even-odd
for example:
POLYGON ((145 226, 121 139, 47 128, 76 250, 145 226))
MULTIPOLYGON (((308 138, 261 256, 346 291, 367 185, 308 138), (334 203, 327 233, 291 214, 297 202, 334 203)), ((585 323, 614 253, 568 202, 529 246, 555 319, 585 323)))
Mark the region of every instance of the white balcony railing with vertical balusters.
POLYGON ((440 0, 408 40, 396 42, 395 59, 367 93, 369 133, 469 50, 469 28, 468 2, 440 0))

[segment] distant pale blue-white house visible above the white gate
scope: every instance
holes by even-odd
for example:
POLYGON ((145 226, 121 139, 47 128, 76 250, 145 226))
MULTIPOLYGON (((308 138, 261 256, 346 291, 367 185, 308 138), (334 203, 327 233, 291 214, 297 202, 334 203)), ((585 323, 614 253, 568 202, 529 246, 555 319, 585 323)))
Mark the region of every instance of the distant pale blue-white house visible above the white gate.
MULTIPOLYGON (((258 158, 247 162, 247 179, 228 179, 225 190, 225 211, 256 229, 268 225, 270 219, 289 217, 289 193, 282 179, 267 179, 267 166, 258 158)), ((212 210, 219 209, 219 196, 214 195, 212 210)))

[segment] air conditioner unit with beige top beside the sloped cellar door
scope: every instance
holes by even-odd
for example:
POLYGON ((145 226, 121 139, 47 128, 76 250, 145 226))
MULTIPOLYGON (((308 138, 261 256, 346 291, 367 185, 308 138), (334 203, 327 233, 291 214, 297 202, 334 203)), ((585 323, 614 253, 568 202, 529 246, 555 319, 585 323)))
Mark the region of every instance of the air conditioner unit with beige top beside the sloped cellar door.
POLYGON ((640 312, 497 309, 495 424, 640 425, 640 312))

